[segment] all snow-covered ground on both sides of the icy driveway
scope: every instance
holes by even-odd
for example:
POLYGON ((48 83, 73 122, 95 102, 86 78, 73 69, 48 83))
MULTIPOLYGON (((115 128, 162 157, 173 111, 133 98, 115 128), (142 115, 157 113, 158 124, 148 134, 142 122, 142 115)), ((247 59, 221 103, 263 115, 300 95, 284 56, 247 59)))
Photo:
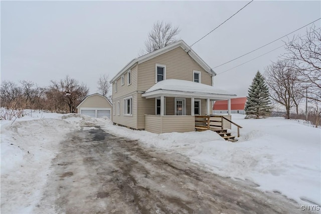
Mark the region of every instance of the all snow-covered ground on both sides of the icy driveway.
POLYGON ((212 131, 154 134, 75 114, 33 112, 13 124, 1 121, 2 212, 33 212, 59 143, 80 124, 100 125, 145 146, 181 153, 214 173, 256 183, 262 191, 283 194, 300 205, 320 205, 321 129, 277 117, 243 118, 232 115, 243 127, 237 143, 212 131))

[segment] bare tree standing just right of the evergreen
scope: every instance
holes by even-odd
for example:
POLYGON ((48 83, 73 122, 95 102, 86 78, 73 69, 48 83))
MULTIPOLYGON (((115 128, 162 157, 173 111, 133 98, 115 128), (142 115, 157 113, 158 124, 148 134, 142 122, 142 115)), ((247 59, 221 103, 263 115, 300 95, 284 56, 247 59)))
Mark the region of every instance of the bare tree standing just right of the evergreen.
POLYGON ((297 70, 293 69, 290 61, 278 60, 265 69, 266 83, 270 89, 270 97, 283 105, 286 118, 290 118, 290 109, 295 106, 298 115, 298 105, 302 100, 303 89, 297 79, 297 70))

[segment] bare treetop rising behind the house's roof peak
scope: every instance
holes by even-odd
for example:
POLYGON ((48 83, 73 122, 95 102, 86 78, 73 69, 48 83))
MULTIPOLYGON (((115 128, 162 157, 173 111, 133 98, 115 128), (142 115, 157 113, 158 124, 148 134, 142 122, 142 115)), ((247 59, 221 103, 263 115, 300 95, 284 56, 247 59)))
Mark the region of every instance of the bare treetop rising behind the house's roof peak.
POLYGON ((176 36, 180 31, 179 27, 173 27, 172 23, 155 22, 145 41, 145 51, 141 51, 139 55, 151 53, 177 42, 176 36))

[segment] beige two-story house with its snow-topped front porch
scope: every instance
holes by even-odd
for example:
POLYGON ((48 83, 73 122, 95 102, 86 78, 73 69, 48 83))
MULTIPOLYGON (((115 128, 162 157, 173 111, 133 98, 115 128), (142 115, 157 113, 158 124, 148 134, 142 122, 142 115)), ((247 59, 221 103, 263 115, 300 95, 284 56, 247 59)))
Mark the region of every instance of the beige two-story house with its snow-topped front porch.
POLYGON ((215 75, 183 40, 135 58, 110 81, 112 121, 154 133, 194 131, 195 115, 236 96, 215 90, 215 75))

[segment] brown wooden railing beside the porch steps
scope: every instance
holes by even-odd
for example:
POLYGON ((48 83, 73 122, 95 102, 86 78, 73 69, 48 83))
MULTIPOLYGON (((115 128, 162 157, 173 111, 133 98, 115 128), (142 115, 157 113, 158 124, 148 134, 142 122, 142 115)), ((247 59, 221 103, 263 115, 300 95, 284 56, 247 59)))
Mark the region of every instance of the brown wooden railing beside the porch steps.
POLYGON ((237 126, 237 137, 240 137, 240 128, 242 126, 234 123, 230 119, 223 115, 206 115, 206 116, 195 116, 195 129, 201 130, 218 130, 224 129, 224 120, 237 126))

